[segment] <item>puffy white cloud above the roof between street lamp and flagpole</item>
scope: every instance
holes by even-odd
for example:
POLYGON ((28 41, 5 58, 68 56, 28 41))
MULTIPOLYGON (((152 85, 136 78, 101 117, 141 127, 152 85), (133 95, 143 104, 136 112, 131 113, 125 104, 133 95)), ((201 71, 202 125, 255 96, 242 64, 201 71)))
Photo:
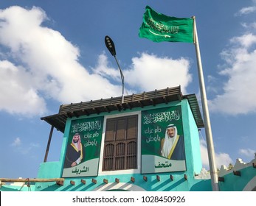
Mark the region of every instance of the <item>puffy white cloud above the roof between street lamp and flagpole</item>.
POLYGON ((141 57, 134 57, 132 62, 132 68, 124 72, 131 88, 155 90, 181 85, 182 92, 187 93, 187 85, 192 81, 189 60, 182 57, 173 60, 142 53, 141 57))

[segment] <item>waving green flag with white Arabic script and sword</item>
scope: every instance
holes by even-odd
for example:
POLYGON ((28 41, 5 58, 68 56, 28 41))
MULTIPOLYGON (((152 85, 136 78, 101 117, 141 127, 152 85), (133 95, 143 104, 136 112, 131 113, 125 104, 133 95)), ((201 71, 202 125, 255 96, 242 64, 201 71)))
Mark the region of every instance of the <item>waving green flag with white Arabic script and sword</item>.
POLYGON ((143 23, 139 28, 139 37, 155 42, 193 43, 193 18, 176 18, 156 13, 147 6, 143 23))

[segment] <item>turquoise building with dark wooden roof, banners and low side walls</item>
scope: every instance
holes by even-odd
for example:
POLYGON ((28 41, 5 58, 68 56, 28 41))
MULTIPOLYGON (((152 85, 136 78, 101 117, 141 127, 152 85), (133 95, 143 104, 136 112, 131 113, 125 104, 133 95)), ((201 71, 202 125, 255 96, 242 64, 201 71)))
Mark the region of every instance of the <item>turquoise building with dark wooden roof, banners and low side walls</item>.
MULTIPOLYGON (((42 119, 52 126, 48 146, 54 128, 63 132, 63 143, 59 161, 47 162, 46 152, 31 191, 212 191, 201 163, 198 101, 180 87, 61 105, 58 114, 42 119), (181 158, 176 150, 168 157, 161 150, 173 124, 179 136, 173 144, 184 139, 181 158), (69 166, 74 136, 80 138, 80 159, 69 166)), ((232 171, 223 166, 220 191, 255 191, 255 165, 254 159, 236 163, 232 171)), ((15 186, 1 185, 0 191, 8 190, 15 186)))

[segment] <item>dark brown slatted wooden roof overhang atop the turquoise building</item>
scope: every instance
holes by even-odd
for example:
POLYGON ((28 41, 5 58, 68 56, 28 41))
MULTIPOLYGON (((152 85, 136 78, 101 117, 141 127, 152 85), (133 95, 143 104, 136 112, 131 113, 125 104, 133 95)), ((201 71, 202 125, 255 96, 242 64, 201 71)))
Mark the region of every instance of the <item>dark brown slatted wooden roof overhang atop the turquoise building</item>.
POLYGON ((131 110, 136 107, 155 106, 157 104, 168 104, 169 102, 187 99, 195 118, 198 128, 204 127, 201 112, 195 94, 182 95, 181 88, 166 88, 153 90, 139 94, 131 94, 123 97, 111 97, 110 99, 91 100, 89 102, 71 103, 60 105, 58 114, 45 116, 41 119, 55 127, 60 132, 64 132, 66 119, 79 116, 90 116, 92 114, 111 113, 112 111, 131 110))

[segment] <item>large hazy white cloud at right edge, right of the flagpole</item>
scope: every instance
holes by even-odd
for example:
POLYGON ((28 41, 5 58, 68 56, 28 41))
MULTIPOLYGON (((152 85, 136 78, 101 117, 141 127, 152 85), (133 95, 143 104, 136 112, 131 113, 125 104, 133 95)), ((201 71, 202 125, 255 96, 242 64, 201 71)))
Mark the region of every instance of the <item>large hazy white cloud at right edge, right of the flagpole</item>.
POLYGON ((232 47, 221 53, 226 65, 221 75, 228 78, 224 93, 209 102, 212 111, 231 115, 256 112, 256 36, 252 33, 232 38, 232 47))

